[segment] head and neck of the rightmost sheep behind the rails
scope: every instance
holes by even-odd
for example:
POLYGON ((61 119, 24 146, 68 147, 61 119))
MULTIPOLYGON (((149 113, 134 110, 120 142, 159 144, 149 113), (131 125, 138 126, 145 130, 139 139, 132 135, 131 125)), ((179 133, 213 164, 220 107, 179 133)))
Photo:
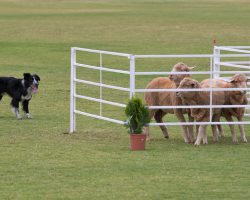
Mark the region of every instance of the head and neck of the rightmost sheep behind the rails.
MULTIPOLYGON (((247 88, 247 82, 250 81, 245 74, 235 74, 230 83, 232 88, 247 88)), ((230 102, 232 104, 243 104, 246 99, 246 90, 230 91, 230 102)))

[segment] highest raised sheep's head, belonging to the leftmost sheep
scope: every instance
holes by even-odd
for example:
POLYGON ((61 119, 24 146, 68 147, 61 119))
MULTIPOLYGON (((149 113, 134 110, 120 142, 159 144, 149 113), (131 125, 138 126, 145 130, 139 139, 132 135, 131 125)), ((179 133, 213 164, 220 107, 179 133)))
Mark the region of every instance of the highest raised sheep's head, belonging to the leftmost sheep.
MULTIPOLYGON (((174 65, 172 72, 189 72, 195 67, 189 67, 184 63, 177 63, 174 65)), ((179 86, 180 82, 185 78, 190 77, 189 74, 170 74, 169 79, 175 82, 176 87, 179 86)))

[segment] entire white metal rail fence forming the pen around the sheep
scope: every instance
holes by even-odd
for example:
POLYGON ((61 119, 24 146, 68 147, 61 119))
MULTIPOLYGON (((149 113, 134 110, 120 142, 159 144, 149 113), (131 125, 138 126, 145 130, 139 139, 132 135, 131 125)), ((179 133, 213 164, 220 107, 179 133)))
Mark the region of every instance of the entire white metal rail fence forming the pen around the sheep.
MULTIPOLYGON (((124 66, 125 67, 125 66, 124 66)), ((198 69, 198 68, 197 68, 198 69)), ((149 109, 191 109, 191 108, 204 108, 204 109, 210 109, 210 121, 208 122, 165 122, 165 123, 149 123, 150 126, 156 126, 156 125, 216 125, 216 124, 250 124, 250 121, 244 121, 244 122, 213 122, 212 121, 212 112, 213 109, 223 108, 223 109, 230 109, 230 108, 245 108, 250 109, 250 105, 213 105, 212 100, 213 97, 211 94, 213 92, 218 91, 246 91, 247 94, 250 94, 250 88, 199 88, 199 89, 145 89, 145 88, 136 88, 136 77, 137 76, 150 76, 150 75, 181 75, 181 74, 190 74, 190 75, 209 75, 210 79, 224 79, 228 80, 230 79, 230 75, 234 75, 237 73, 244 73, 247 76, 250 75, 250 46, 215 46, 214 47, 214 53, 213 54, 182 54, 182 55, 133 55, 133 54, 127 54, 127 53, 118 53, 118 52, 111 52, 111 51, 102 51, 102 50, 94 50, 94 49, 87 49, 87 48, 79 48, 79 47, 72 47, 71 48, 71 94, 70 94, 70 132, 74 132, 76 130, 76 114, 85 115, 88 117, 92 117, 95 119, 101 119, 117 124, 125 124, 125 121, 118 120, 118 119, 112 119, 110 117, 103 116, 103 108, 102 104, 107 104, 111 106, 116 106, 118 108, 124 109, 126 105, 124 103, 119 102, 113 102, 103 99, 103 88, 113 89, 117 91, 123 91, 128 92, 128 97, 133 97, 136 93, 147 93, 147 92, 183 92, 183 91, 196 91, 196 92, 209 92, 210 93, 210 103, 209 105, 180 105, 180 106, 148 106, 149 109), (87 63, 78 63, 76 62, 76 54, 77 52, 88 52, 93 54, 99 54, 99 66, 95 65, 89 65, 87 63), (223 53, 222 53, 223 52, 223 53), (225 53, 224 53, 225 52, 225 53), (112 55, 112 56, 119 56, 119 57, 125 57, 129 59, 129 70, 121 70, 121 69, 115 69, 112 66, 104 66, 103 65, 103 55, 112 55), (187 58, 187 59, 210 59, 210 63, 208 66, 210 66, 210 70, 208 71, 190 71, 190 72, 174 72, 174 71, 136 71, 136 60, 137 59, 176 59, 176 58, 187 58), (234 59, 232 61, 228 61, 230 59, 227 59, 227 61, 222 61, 221 59, 234 59), (241 60, 237 60, 240 58, 241 60), (243 60, 248 59, 248 60, 243 60), (221 70, 221 67, 232 67, 235 68, 235 71, 223 71, 221 70), (91 70, 100 71, 100 80, 99 81, 90 81, 90 80, 83 80, 80 78, 77 78, 76 74, 76 68, 87 68, 91 70), (243 70, 238 70, 243 69, 243 70), (237 71, 238 70, 238 71, 237 71), (126 87, 120 87, 115 86, 111 84, 104 84, 103 83, 103 77, 102 72, 110 72, 110 73, 117 73, 117 74, 124 74, 129 75, 129 88, 126 87), (221 75, 229 75, 228 77, 222 77, 221 75), (100 88, 100 97, 94 98, 87 95, 77 94, 76 92, 76 83, 78 84, 85 84, 88 86, 95 86, 100 88), (88 113, 84 111, 80 111, 76 109, 76 100, 77 99, 84 99, 92 102, 99 103, 99 114, 93 114, 88 113)), ((250 96, 248 97, 248 100, 250 100, 250 96)), ((245 114, 245 116, 250 116, 250 114, 245 114)))

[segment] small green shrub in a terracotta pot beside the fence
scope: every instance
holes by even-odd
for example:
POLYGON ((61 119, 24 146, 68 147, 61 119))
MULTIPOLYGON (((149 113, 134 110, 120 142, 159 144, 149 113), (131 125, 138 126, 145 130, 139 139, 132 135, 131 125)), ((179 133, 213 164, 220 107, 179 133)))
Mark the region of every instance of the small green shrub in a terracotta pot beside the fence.
POLYGON ((130 133, 130 149, 145 150, 146 134, 143 134, 143 127, 150 121, 148 108, 142 104, 141 99, 132 97, 127 103, 125 114, 125 126, 130 133))

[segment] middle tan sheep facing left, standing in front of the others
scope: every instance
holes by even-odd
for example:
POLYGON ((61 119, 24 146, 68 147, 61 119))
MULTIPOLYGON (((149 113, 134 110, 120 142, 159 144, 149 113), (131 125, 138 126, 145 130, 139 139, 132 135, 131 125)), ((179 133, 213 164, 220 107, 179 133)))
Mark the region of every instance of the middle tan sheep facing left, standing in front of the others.
MULTIPOLYGON (((212 80, 214 84, 214 80, 212 80)), ((201 84, 194 79, 184 78, 178 87, 178 89, 194 89, 202 88, 201 84)), ((182 103, 186 105, 209 105, 210 104, 210 92, 209 91, 179 91, 176 92, 177 97, 182 99, 182 103)), ((214 91, 212 92, 212 104, 213 105, 223 105, 225 103, 225 92, 223 91, 214 91)), ((209 108, 191 108, 191 116, 195 118, 197 122, 209 122, 210 121, 210 109, 209 108)), ((221 108, 212 109, 212 121, 219 121, 221 116, 221 108)), ((200 145, 201 139, 203 138, 203 144, 207 144, 207 135, 206 135, 207 125, 200 125, 198 129, 198 135, 195 141, 195 145, 200 145)), ((213 128, 213 140, 216 140, 215 137, 216 131, 213 128)))

